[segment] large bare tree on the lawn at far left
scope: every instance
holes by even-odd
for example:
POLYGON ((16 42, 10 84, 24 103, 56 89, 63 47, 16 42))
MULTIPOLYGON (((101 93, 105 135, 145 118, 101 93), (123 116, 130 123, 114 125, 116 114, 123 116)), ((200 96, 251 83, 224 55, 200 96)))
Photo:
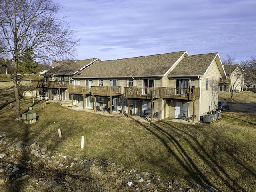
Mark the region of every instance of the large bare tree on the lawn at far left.
POLYGON ((74 32, 58 12, 62 7, 52 0, 0 1, 0 54, 14 64, 12 78, 16 100, 16 120, 20 120, 18 60, 26 51, 34 58, 58 60, 74 56, 74 32))

